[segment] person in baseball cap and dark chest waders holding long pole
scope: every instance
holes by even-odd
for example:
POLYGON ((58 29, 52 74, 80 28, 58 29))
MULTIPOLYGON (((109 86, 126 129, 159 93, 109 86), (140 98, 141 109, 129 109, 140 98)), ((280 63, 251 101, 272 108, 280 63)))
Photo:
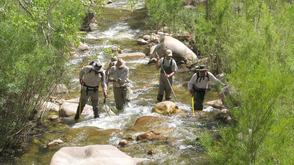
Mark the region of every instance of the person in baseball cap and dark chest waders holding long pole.
POLYGON ((175 72, 178 69, 177 64, 175 63, 175 60, 172 59, 172 52, 171 50, 166 50, 165 51, 165 57, 161 58, 157 55, 156 57, 156 70, 159 70, 161 67, 160 65, 163 66, 164 71, 161 69, 160 70, 160 77, 159 77, 159 90, 157 94, 157 100, 162 101, 163 99, 163 94, 165 92, 165 99, 170 100, 171 99, 171 87, 174 82, 174 75, 175 72), (159 62, 160 59, 160 62, 159 62), (170 82, 171 85, 168 84, 168 81, 170 82))

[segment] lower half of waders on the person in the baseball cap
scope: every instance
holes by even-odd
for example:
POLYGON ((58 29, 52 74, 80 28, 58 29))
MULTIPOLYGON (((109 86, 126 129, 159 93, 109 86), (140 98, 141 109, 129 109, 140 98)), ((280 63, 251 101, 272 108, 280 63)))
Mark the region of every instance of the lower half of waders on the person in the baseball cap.
POLYGON ((169 86, 168 81, 170 82, 171 87, 172 87, 172 84, 174 82, 174 76, 165 78, 164 74, 160 73, 159 90, 158 90, 158 94, 157 94, 158 101, 162 101, 164 92, 165 92, 165 99, 166 100, 171 99, 171 87, 169 86))

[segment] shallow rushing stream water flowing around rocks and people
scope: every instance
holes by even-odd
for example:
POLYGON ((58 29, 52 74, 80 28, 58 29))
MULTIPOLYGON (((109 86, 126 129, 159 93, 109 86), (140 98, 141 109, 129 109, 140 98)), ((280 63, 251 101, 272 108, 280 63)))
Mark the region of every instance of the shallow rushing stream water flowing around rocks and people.
MULTIPOLYGON (((126 0, 114 2, 124 5, 126 0)), ((85 63, 89 63, 93 55, 98 54, 98 60, 107 63, 108 56, 103 54, 100 48, 108 47, 108 41, 112 41, 113 45, 120 45, 125 53, 147 54, 148 47, 138 45, 136 42, 138 38, 147 34, 145 25, 147 9, 144 8, 143 2, 136 5, 134 12, 124 10, 120 12, 120 10, 118 5, 110 4, 105 7, 102 16, 96 16, 99 29, 89 32, 85 37, 90 52, 83 52, 81 56, 73 57, 70 61, 74 68, 72 72, 74 76, 70 81, 70 92, 63 95, 64 99, 79 97, 80 85, 77 73, 81 69, 81 57, 86 59, 85 63)), ((110 118, 107 114, 102 114, 99 119, 94 119, 93 114, 87 114, 81 116, 81 122, 75 122, 73 117, 59 118, 46 126, 40 134, 29 138, 26 147, 20 152, 10 157, 2 157, 0 164, 49 164, 53 154, 61 147, 97 144, 117 146, 122 139, 131 142, 130 146, 120 148, 131 157, 148 158, 162 165, 205 164, 203 148, 189 145, 190 143, 187 142, 201 136, 200 132, 204 128, 212 133, 217 132, 214 118, 218 109, 205 105, 204 110, 197 115, 193 116, 189 113, 192 106, 187 83, 193 73, 189 72, 186 66, 180 65, 175 75, 173 90, 178 99, 176 104, 186 113, 169 116, 151 113, 152 107, 156 104, 159 70, 155 69, 155 63, 147 64, 148 61, 149 56, 126 60, 130 68, 131 88, 134 94, 128 107, 121 112, 115 109, 112 85, 109 84, 107 103, 118 114, 117 116, 110 118), (134 129, 132 126, 140 117, 147 117, 150 122, 145 127, 134 129), (198 127, 193 127, 192 124, 198 127), (161 131, 161 135, 167 137, 167 140, 139 142, 135 140, 139 133, 153 129, 161 131), (47 148, 47 144, 54 139, 61 139, 64 143, 47 148), (149 149, 154 149, 156 153, 148 155, 149 149)), ((103 96, 101 88, 100 95, 103 96)), ((208 91, 205 102, 215 99, 218 99, 217 91, 208 91)), ((175 98, 173 97, 171 101, 175 102, 175 98)))

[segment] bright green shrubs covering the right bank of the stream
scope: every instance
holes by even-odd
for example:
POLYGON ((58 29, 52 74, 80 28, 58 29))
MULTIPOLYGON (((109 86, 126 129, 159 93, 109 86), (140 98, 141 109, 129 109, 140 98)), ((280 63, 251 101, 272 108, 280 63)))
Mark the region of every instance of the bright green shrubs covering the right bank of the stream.
POLYGON ((226 73, 239 103, 236 108, 227 100, 234 122, 220 126, 219 143, 203 134, 207 160, 211 164, 292 164, 293 2, 208 0, 208 5, 196 3, 197 9, 192 10, 181 2, 146 0, 148 24, 154 29, 175 25, 193 35, 198 56, 211 57, 210 70, 226 73), (156 4, 163 5, 156 8, 156 4), (169 5, 176 7, 167 9, 169 5), (169 14, 177 12, 186 14, 169 14))

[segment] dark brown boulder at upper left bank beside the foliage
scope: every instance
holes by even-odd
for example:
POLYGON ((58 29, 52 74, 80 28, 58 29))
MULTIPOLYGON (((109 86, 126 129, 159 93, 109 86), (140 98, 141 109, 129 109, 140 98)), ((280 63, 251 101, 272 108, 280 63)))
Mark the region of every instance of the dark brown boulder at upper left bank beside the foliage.
POLYGON ((98 29, 98 23, 94 18, 94 12, 87 12, 86 16, 84 17, 84 22, 80 27, 81 31, 93 31, 98 29))

